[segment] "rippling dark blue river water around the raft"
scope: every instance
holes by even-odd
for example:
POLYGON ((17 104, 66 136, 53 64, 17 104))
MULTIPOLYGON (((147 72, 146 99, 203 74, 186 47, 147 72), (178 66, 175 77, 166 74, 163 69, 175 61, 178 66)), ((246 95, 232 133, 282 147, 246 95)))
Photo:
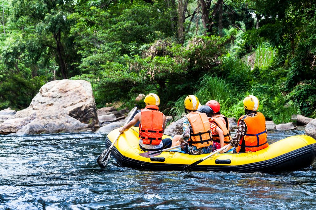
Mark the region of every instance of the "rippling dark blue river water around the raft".
MULTIPOLYGON (((269 143, 304 131, 273 131, 269 143)), ((315 209, 316 168, 153 172, 96 158, 105 135, 0 136, 0 209, 315 209)))

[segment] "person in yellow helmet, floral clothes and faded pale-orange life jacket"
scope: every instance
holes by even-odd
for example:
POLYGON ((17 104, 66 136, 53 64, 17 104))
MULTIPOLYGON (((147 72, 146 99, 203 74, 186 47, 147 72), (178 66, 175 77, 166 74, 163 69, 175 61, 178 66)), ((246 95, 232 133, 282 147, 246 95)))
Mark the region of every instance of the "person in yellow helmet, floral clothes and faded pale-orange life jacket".
POLYGON ((212 152, 212 138, 209 119, 205 113, 197 111, 198 99, 189 95, 184 100, 185 113, 183 117, 182 135, 175 135, 172 139, 172 146, 187 143, 189 154, 204 154, 212 152))

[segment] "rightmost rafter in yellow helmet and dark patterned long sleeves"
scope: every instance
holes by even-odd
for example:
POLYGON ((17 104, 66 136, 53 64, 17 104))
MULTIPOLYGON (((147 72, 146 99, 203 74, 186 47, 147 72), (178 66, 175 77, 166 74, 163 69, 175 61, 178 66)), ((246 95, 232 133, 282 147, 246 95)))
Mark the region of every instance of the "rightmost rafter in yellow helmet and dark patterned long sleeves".
POLYGON ((248 95, 242 102, 245 115, 239 118, 236 135, 224 152, 233 147, 236 147, 234 152, 255 152, 269 146, 264 115, 257 112, 259 100, 253 95, 248 95))

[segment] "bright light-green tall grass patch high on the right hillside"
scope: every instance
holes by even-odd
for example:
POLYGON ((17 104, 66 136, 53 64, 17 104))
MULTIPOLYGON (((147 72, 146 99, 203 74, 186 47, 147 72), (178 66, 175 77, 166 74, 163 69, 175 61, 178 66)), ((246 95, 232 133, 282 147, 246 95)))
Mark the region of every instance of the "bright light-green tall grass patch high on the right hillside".
POLYGON ((274 57, 277 54, 277 49, 272 48, 265 43, 257 44, 255 50, 255 64, 254 66, 259 68, 267 68, 273 62, 274 57))

